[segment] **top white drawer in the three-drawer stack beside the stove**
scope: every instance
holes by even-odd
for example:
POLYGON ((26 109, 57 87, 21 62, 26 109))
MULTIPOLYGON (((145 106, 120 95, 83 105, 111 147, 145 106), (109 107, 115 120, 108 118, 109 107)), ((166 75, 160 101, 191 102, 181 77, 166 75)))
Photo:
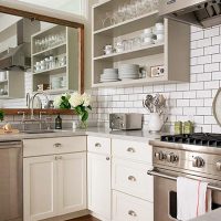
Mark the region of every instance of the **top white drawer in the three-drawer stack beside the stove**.
POLYGON ((113 139, 113 156, 152 164, 152 148, 146 143, 113 139))

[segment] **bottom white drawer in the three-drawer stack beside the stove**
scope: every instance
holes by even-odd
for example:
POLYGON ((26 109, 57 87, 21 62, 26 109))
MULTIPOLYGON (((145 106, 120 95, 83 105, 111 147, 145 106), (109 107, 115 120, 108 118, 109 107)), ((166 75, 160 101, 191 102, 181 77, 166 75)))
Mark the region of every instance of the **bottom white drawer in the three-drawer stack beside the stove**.
POLYGON ((113 221, 154 221, 154 203, 113 191, 113 221))

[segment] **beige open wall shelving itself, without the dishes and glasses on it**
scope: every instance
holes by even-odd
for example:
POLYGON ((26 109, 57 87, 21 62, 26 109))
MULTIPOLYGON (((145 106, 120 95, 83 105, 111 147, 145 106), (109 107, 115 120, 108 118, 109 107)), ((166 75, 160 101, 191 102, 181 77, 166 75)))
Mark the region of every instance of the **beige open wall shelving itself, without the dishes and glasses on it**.
POLYGON ((159 18, 158 10, 154 10, 123 22, 103 27, 103 20, 128 0, 106 0, 93 7, 92 33, 92 86, 136 86, 162 83, 179 83, 190 81, 190 27, 172 20, 159 18), (126 41, 140 36, 144 29, 164 22, 165 40, 159 43, 135 46, 129 50, 104 55, 104 46, 115 45, 117 41, 126 41), (101 83, 104 69, 117 69, 120 64, 138 64, 146 69, 146 76, 137 80, 124 80, 101 83), (150 70, 164 66, 165 74, 152 77, 150 70))

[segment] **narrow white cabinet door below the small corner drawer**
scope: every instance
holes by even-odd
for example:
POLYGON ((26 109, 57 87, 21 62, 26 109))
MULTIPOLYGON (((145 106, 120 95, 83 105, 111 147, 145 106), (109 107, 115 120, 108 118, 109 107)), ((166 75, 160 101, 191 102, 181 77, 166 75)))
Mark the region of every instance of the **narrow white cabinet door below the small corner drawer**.
POLYGON ((88 209, 102 220, 110 220, 110 159, 104 155, 87 155, 88 209))

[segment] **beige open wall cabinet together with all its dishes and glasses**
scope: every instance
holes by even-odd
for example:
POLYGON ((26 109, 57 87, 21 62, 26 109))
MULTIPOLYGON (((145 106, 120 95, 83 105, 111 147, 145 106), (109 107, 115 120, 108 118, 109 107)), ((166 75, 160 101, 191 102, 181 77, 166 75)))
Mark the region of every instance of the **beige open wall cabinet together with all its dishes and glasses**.
POLYGON ((190 27, 160 19, 148 2, 93 7, 93 87, 189 82, 190 27))

